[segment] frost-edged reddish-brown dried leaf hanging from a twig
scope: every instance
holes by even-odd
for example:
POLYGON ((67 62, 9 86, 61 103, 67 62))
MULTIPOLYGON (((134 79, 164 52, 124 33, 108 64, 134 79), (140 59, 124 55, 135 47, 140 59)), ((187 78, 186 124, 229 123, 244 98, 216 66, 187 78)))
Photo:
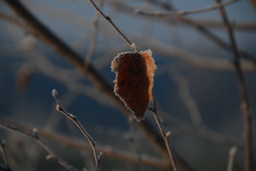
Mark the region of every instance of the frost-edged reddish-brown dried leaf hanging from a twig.
POLYGON ((111 70, 116 73, 114 92, 133 112, 137 121, 144 119, 152 99, 156 65, 151 54, 150 50, 124 52, 111 63, 111 70))

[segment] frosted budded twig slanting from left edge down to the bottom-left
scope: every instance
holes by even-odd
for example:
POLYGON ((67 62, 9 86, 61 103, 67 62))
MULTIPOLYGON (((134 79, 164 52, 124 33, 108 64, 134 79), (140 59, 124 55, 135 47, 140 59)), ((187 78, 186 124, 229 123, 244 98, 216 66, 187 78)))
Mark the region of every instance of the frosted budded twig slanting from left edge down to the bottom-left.
POLYGON ((14 131, 14 132, 21 133, 21 134, 26 135, 26 136, 30 137, 31 139, 35 140, 37 143, 39 143, 49 153, 49 155, 46 157, 47 159, 53 159, 53 160, 59 162, 60 165, 64 166, 68 170, 78 171, 78 169, 76 169, 75 167, 69 165, 65 160, 61 159, 43 141, 41 141, 39 139, 39 136, 37 134, 36 129, 33 129, 33 134, 30 134, 30 133, 28 133, 26 131, 23 131, 22 129, 17 128, 17 127, 15 127, 13 125, 9 125, 9 124, 4 123, 2 120, 0 120, 0 125, 3 126, 4 128, 7 128, 7 129, 9 129, 11 131, 14 131))

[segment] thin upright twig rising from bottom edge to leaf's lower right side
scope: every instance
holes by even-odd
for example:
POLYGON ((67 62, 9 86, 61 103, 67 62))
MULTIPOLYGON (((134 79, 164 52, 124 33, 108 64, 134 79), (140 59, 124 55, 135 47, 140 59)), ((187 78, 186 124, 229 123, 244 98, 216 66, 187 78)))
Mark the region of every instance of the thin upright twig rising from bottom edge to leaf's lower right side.
POLYGON ((160 130, 160 132, 161 132, 161 134, 163 136, 166 149, 167 149, 167 151, 169 153, 169 157, 170 157, 171 162, 172 162, 172 168, 173 168, 174 171, 179 171, 177 162, 176 162, 175 157, 174 157, 174 151, 173 151, 173 148, 172 148, 172 144, 169 142, 169 136, 171 135, 171 133, 170 132, 165 133, 162 121, 161 121, 161 119, 158 116, 158 113, 157 113, 157 110, 156 110, 155 94, 154 94, 154 90, 153 89, 152 89, 152 95, 153 95, 153 105, 154 105, 154 108, 152 108, 152 109, 149 108, 149 110, 151 110, 153 112, 154 118, 156 120, 156 124, 159 127, 159 130, 160 130))

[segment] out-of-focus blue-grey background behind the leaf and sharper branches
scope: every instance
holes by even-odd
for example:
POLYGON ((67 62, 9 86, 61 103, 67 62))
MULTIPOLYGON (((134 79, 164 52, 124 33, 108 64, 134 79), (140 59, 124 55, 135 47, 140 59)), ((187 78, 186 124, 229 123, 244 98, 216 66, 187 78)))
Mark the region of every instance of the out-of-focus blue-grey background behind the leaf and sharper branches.
MULTIPOLYGON (((21 2, 63 42, 91 61, 92 66, 114 86, 111 61, 118 53, 131 49, 90 3, 82 0, 21 2)), ((171 17, 135 12, 186 11, 216 2, 98 0, 95 3, 139 50, 153 51, 157 64, 154 78, 157 109, 166 131, 172 133, 170 141, 175 151, 198 170, 226 170, 229 149, 237 146, 234 170, 243 170, 241 94, 232 64, 230 39, 219 10, 171 17)), ((238 1, 225 9, 234 26, 255 124, 255 6, 250 1, 238 1)), ((63 107, 77 116, 100 148, 123 156, 164 161, 140 128, 134 123, 129 124, 129 119, 116 104, 81 71, 23 30, 18 22, 11 22, 10 19, 18 19, 24 24, 3 1, 0 2, 0 14, 1 120, 28 130, 37 127, 42 132, 42 139, 59 156, 80 170, 83 167, 93 170, 90 150, 81 150, 49 135, 87 143, 75 125, 55 111, 51 93, 55 88, 63 107), (131 136, 133 141, 129 139, 131 136)), ((146 120, 158 130, 150 111, 146 112, 146 120)), ((65 170, 57 162, 46 160, 47 153, 35 141, 2 127, 0 137, 6 142, 11 167, 17 170, 65 170)), ((255 156, 255 136, 253 146, 255 156)), ((0 159, 3 164, 3 157, 0 159)), ((253 165, 256 168, 255 158, 253 165)), ((142 166, 131 159, 118 160, 110 154, 105 155, 100 168, 163 170, 162 166, 145 163, 142 166)))

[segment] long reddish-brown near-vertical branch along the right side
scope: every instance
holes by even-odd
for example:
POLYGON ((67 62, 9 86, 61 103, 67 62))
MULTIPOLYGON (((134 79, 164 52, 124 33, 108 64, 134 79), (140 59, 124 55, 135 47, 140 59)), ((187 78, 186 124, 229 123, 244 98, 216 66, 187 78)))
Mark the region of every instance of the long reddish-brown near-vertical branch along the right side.
MULTIPOLYGON (((221 0, 216 0, 217 3, 220 3, 221 0)), ((237 77, 238 77, 238 84, 240 87, 240 92, 241 92, 241 106, 243 109, 243 115, 244 115, 244 128, 245 128, 245 159, 244 159, 244 169, 245 171, 252 171, 252 158, 253 158, 253 153, 252 153, 252 119, 251 119, 251 109, 250 109, 250 104, 249 104, 249 97, 245 85, 245 79, 243 75, 243 71, 241 68, 241 61, 240 61, 240 56, 239 52, 237 49, 237 44, 236 44, 236 39, 234 36, 234 31, 232 26, 230 25, 228 15, 223 9, 223 7, 220 8, 220 13, 223 19, 223 23, 227 26, 228 30, 228 35, 230 38, 231 45, 233 47, 233 55, 234 55, 234 65, 236 68, 237 72, 237 77)))

